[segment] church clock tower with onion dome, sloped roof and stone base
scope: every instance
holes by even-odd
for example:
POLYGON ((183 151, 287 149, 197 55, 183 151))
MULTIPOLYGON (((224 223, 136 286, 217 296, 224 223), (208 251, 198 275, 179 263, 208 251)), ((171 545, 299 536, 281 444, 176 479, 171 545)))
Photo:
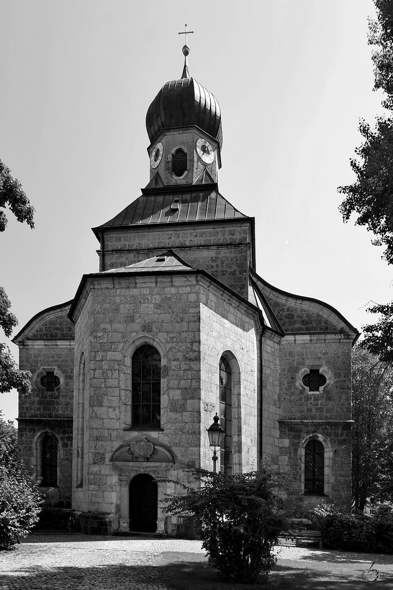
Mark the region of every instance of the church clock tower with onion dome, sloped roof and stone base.
POLYGON ((181 78, 167 81, 147 110, 150 181, 126 209, 93 228, 101 245, 100 270, 126 267, 172 248, 248 299, 255 220, 219 192, 220 106, 189 76, 187 45, 183 54, 181 78))

